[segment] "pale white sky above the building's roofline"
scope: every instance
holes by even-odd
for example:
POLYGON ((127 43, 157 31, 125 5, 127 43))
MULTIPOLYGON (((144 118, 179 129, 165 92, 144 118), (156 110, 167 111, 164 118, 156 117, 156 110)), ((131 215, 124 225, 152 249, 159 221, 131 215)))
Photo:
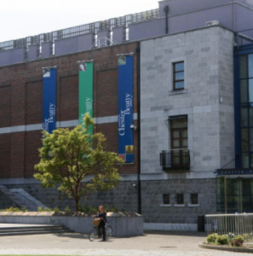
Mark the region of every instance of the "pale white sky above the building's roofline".
POLYGON ((158 0, 1 0, 0 42, 158 9, 158 0))

